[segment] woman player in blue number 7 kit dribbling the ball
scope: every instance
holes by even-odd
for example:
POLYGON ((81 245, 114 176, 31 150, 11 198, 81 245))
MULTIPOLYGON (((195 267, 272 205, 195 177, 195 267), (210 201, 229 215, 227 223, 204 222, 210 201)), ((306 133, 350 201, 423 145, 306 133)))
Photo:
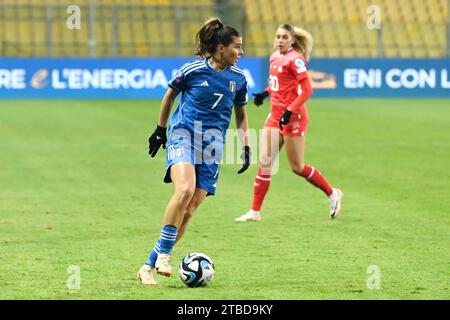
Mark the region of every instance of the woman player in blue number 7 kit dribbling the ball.
POLYGON ((154 274, 172 274, 171 253, 184 234, 189 219, 207 195, 214 195, 219 175, 224 136, 234 107, 236 126, 241 133, 243 167, 250 164, 247 82, 236 67, 243 55, 242 37, 220 19, 211 18, 197 33, 197 52, 202 59, 183 65, 169 81, 162 100, 159 121, 149 139, 152 157, 166 148, 165 182, 174 184, 174 194, 166 207, 161 236, 137 277, 144 285, 156 284, 154 274), (169 122, 175 97, 181 101, 169 122))

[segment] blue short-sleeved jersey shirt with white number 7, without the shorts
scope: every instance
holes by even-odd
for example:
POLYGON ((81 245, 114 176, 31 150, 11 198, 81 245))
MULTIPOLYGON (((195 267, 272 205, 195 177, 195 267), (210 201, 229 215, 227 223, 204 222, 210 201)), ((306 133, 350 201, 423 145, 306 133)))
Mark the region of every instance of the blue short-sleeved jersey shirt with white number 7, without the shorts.
POLYGON ((169 133, 182 128, 194 132, 194 121, 201 122, 202 132, 218 129, 225 135, 233 106, 247 104, 247 81, 236 66, 222 72, 212 68, 207 59, 184 64, 169 81, 182 92, 181 101, 169 123, 169 133))

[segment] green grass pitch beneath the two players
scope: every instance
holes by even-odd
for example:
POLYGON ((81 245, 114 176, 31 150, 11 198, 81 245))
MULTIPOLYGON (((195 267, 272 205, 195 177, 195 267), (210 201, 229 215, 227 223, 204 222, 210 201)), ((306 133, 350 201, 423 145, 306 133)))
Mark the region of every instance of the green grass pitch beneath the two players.
MULTIPOLYGON (((135 280, 172 193, 164 153, 147 154, 159 101, 1 101, 0 299, 450 299, 450 101, 308 108, 306 161, 345 193, 341 216, 283 152, 263 219, 236 224, 257 166, 224 165, 174 249, 175 270, 189 252, 215 262, 191 289, 135 280)), ((248 110, 260 128, 268 103, 248 110)))

